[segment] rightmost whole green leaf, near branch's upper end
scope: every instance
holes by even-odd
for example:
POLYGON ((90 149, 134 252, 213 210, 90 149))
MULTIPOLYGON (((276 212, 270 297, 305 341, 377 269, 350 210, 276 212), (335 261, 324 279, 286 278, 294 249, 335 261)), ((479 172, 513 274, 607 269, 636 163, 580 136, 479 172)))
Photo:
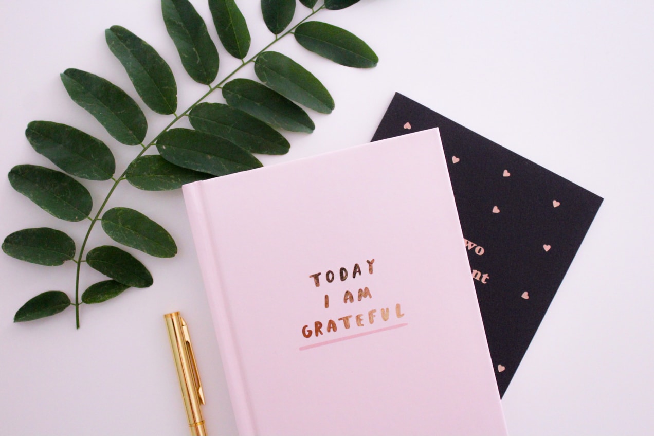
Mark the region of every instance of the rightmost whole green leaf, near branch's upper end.
POLYGON ((300 24, 295 39, 311 52, 341 65, 371 68, 377 65, 377 54, 361 39, 345 29, 318 21, 300 24))

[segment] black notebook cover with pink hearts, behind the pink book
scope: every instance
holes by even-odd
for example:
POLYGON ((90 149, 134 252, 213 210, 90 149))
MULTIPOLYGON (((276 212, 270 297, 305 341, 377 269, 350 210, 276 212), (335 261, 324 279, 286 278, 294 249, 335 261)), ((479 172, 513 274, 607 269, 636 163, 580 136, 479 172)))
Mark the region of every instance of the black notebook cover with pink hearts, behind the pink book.
POLYGON ((399 93, 372 141, 436 127, 503 396, 602 198, 399 93))

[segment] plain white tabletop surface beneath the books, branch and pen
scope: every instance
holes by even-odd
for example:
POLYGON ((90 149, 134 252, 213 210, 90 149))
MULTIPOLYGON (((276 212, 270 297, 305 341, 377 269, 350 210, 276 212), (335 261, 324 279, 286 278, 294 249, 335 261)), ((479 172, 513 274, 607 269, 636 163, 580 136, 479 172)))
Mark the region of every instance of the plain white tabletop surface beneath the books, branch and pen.
MULTIPOLYGON (((271 40, 258 1, 239 1, 254 54, 271 40)), ((194 1, 217 41, 208 7, 194 1)), ((305 14, 298 5, 296 20, 305 14)), ((276 44, 332 92, 336 110, 312 113, 316 131, 287 135, 273 164, 370 141, 398 91, 606 200, 517 370, 502 404, 511 434, 654 433, 654 296, 651 225, 654 3, 435 2, 362 0, 324 20, 353 31, 377 52, 371 70, 341 67, 287 37, 276 44)), ((53 167, 24 137, 31 120, 80 128, 107 142, 118 169, 137 149, 117 145, 67 96, 58 77, 91 71, 135 92, 104 41, 114 24, 143 37, 177 78, 180 108, 206 90, 182 70, 156 0, 0 1, 0 173, 16 164, 53 167)), ((219 77, 238 65, 219 49, 219 77)), ((247 68, 241 77, 252 77, 247 68)), ((215 94, 211 101, 222 101, 215 94)), ((141 105, 143 106, 143 105, 141 105)), ((147 140, 169 117, 146 111, 147 140)), ((108 183, 88 183, 99 204, 108 183)), ((52 226, 81 241, 86 224, 50 217, 0 183, 0 236, 52 226)), ((181 191, 120 184, 109 206, 136 207, 179 246, 172 259, 137 254, 154 285, 14 324, 45 290, 72 294, 75 264, 47 268, 0 254, 0 434, 187 433, 162 315, 182 311, 200 362, 209 431, 235 425, 181 191)), ((98 227, 92 244, 108 241, 98 227)), ((78 243, 79 244, 79 243, 78 243)), ((82 287, 103 277, 88 268, 82 287)))

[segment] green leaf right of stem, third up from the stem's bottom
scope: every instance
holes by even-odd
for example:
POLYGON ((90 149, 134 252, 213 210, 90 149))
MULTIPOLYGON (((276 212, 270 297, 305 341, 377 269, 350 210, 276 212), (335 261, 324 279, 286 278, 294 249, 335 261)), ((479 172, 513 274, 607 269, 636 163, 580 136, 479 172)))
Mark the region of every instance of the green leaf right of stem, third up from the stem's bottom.
POLYGON ((145 215, 129 208, 112 208, 102 216, 102 228, 114 241, 148 255, 171 258, 177 254, 175 240, 145 215))

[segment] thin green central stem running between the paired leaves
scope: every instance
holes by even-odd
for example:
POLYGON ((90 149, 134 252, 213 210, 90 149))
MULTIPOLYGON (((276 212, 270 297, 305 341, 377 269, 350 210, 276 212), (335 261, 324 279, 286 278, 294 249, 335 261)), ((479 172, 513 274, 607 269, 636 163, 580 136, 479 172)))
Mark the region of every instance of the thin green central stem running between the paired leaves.
MULTIPOLYGON (((245 65, 248 65, 249 63, 252 63, 254 60, 256 60, 256 58, 258 58, 258 56, 260 56, 260 54, 262 54, 263 52, 268 50, 268 48, 270 48, 273 44, 277 43, 277 41, 281 40, 286 35, 288 35, 290 33, 293 33, 293 31, 296 29, 296 27, 300 26, 300 24, 302 24, 303 22, 305 22, 306 20, 311 18, 313 15, 320 12, 321 9, 324 9, 324 5, 320 6, 316 10, 312 10, 311 14, 305 16, 305 18, 300 20, 300 22, 298 22, 298 24, 296 24, 295 26, 288 29, 282 35, 275 35, 275 39, 271 43, 267 44, 267 46, 265 46, 264 48, 259 50, 259 52, 254 54, 254 56, 250 57, 249 60, 247 60, 247 61, 241 60, 242 61, 241 65, 236 67, 236 69, 234 69, 234 71, 232 71, 232 73, 228 74, 226 77, 224 77, 224 79, 220 80, 220 82, 218 82, 215 86, 211 86, 211 84, 209 84, 209 91, 205 92, 205 94, 203 94, 198 100, 196 100, 194 103, 192 103, 192 105, 190 105, 190 107, 186 108, 186 110, 183 113, 181 113, 179 115, 177 113, 173 113, 175 118, 173 118, 173 120, 165 128, 163 128, 163 130, 160 131, 156 135, 156 137, 154 137, 152 139, 152 141, 150 141, 147 145, 145 145, 144 143, 141 143, 141 147, 143 147, 143 150, 141 150, 139 152, 139 154, 137 156, 135 156, 135 158, 131 162, 134 162, 138 158, 141 158, 141 156, 143 156, 143 154, 146 152, 146 150, 150 149, 150 147, 152 147, 156 143, 156 141, 159 139, 159 137, 161 135, 163 135, 163 133, 168 131, 182 117, 186 116, 192 109, 194 109, 196 106, 198 106, 199 103, 201 103, 202 101, 204 101, 204 99, 209 97, 209 94, 213 93, 215 90, 222 89, 222 85, 225 82, 227 82, 227 80, 229 80, 233 75, 238 73, 243 67, 245 67, 245 65)), ((80 270, 81 270, 82 262, 86 262, 86 260, 82 260, 82 256, 84 255, 84 249, 86 249, 86 243, 88 243, 88 239, 89 239, 89 237, 91 235, 91 232, 92 232, 92 230, 93 230, 93 228, 95 226, 95 222, 101 220, 100 215, 102 214, 102 211, 107 206, 107 202, 109 201, 109 198, 111 198, 111 195, 116 190, 116 187, 118 186, 118 184, 120 184, 120 182, 127 179, 126 175, 127 175, 128 169, 129 169, 129 165, 126 167, 126 169, 122 172, 122 174, 119 177, 117 177, 117 178, 112 177, 111 178, 114 181, 114 183, 112 184, 111 188, 109 189, 109 192, 107 192, 107 196, 105 196, 105 200, 100 205, 99 209, 97 210, 97 213, 95 213, 95 217, 94 218, 86 217, 89 220, 91 220, 91 224, 88 226, 88 230, 86 231, 86 236, 84 236, 84 241, 82 241, 82 245, 80 247, 80 252, 79 252, 78 258, 77 258, 77 260, 73 260, 73 261, 75 261, 77 263, 77 272, 75 274, 75 303, 73 303, 73 305, 75 306, 75 321, 76 321, 76 324, 77 324, 77 329, 80 328, 80 311, 79 311, 79 307, 80 307, 80 304, 82 304, 82 302, 80 302, 80 296, 79 296, 79 294, 80 294, 79 293, 79 289, 80 289, 79 288, 79 285, 80 285, 80 270)))

